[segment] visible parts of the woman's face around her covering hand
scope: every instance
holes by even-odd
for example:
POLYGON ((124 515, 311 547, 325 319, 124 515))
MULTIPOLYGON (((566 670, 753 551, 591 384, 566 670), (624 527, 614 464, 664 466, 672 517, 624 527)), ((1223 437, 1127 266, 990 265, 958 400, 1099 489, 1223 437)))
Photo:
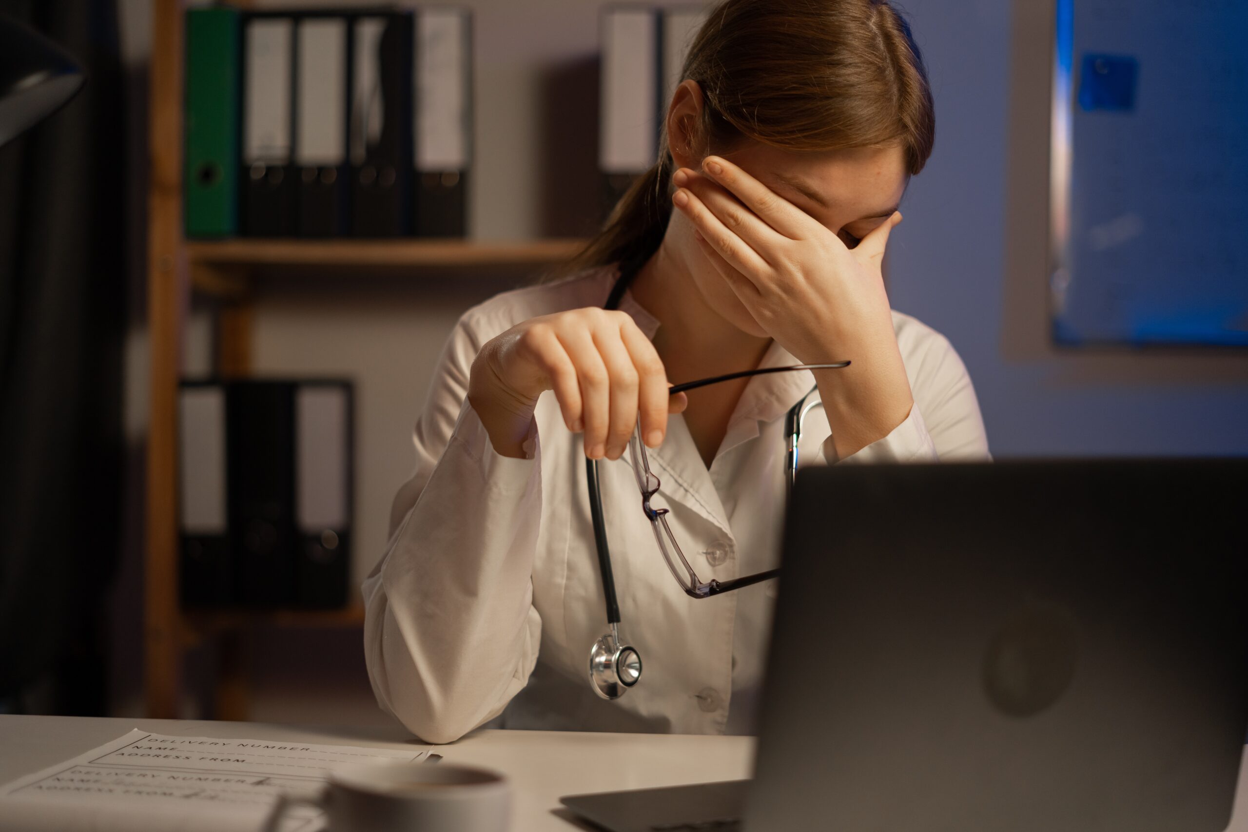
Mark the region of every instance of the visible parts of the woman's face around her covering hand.
MULTIPOLYGON (((750 142, 720 156, 811 216, 849 248, 887 220, 909 178, 900 146, 794 152, 750 142)), ((689 167, 700 170, 696 163, 689 167)), ((768 337, 698 244, 693 223, 679 211, 673 212, 671 222, 678 225, 669 231, 676 233, 683 259, 708 307, 738 329, 768 337)))

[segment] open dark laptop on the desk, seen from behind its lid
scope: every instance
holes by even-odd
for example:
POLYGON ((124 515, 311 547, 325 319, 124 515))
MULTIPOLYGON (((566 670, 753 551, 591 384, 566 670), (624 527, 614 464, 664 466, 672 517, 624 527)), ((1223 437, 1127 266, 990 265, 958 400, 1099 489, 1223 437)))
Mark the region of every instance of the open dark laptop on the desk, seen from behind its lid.
MULTIPOLYGON (((1221 832, 1248 730, 1248 460, 804 469, 755 780, 612 832, 1221 832)), ((698 601, 714 604, 714 599, 698 601)))

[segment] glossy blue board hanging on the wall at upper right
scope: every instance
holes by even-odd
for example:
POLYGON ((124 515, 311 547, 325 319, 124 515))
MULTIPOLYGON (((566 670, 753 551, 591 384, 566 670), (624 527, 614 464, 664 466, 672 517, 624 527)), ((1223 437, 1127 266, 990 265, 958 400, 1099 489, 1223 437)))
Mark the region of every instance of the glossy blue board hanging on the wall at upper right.
POLYGON ((1248 2, 1057 6, 1055 339, 1248 346, 1248 2))

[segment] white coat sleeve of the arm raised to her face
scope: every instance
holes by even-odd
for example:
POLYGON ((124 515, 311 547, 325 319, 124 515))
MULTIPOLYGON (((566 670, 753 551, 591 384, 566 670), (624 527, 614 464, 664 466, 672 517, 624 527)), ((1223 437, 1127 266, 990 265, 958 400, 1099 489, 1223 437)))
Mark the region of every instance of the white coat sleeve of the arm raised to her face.
POLYGON ((940 333, 924 328, 902 349, 915 403, 887 437, 837 459, 832 437, 820 448, 825 463, 917 463, 987 460, 988 438, 971 375, 940 333))

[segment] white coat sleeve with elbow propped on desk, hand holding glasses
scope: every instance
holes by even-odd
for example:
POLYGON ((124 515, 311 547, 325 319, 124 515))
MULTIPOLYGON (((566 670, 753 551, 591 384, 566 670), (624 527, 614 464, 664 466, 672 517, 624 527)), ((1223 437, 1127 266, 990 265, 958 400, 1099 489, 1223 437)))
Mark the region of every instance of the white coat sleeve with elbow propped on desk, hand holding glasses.
POLYGON ((467 400, 472 360, 494 334, 480 329, 466 316, 447 343, 413 433, 416 470, 362 588, 373 692, 427 742, 451 742, 500 713, 528 681, 542 632, 532 585, 537 427, 525 459, 490 444, 467 400))

